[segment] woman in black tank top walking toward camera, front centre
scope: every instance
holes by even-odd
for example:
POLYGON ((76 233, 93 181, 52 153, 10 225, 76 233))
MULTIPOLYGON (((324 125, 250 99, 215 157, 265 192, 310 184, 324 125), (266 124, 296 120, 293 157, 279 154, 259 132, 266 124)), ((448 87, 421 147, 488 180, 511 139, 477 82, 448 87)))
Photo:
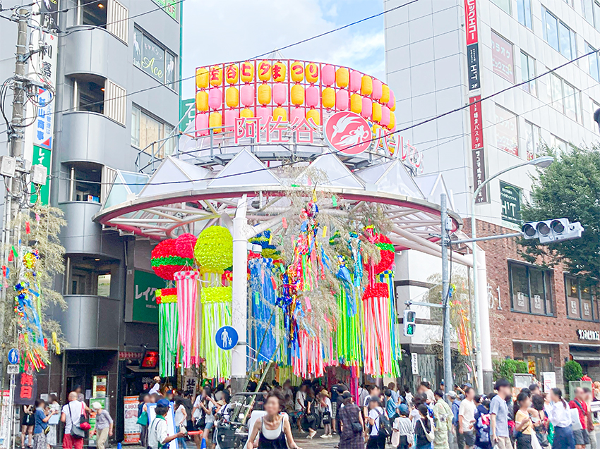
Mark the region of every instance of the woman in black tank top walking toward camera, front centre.
POLYGON ((246 449, 300 449, 289 425, 287 414, 282 414, 285 399, 279 390, 272 390, 265 400, 267 414, 258 419, 251 429, 246 449), (258 435, 258 446, 255 444, 258 435))

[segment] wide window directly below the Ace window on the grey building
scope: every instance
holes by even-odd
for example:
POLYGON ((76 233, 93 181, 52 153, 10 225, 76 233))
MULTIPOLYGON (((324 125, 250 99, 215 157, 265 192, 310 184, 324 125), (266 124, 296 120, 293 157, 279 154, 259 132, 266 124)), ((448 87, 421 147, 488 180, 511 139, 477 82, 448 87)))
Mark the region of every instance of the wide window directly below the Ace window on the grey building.
POLYGON ((131 108, 131 144, 157 157, 174 154, 173 127, 150 116, 135 104, 131 108))

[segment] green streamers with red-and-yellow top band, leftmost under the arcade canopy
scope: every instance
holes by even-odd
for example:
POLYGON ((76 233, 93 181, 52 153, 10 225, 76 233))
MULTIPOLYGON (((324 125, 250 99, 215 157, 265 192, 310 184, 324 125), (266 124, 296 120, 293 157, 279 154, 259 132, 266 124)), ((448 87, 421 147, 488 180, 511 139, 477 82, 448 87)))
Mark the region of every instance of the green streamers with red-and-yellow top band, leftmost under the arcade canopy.
POLYGON ((155 291, 158 305, 158 352, 160 376, 173 376, 177 356, 177 289, 162 288, 155 291))

